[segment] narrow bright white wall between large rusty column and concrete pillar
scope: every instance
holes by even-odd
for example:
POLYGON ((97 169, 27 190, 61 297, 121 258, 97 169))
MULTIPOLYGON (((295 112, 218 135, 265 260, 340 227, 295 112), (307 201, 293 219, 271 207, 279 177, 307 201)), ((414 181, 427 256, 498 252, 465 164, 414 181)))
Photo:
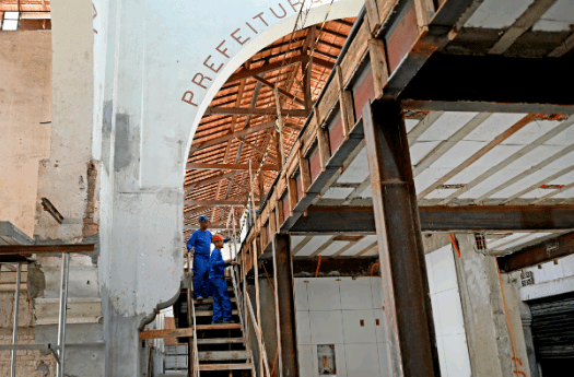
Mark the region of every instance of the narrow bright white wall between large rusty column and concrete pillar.
POLYGON ((455 257, 450 246, 425 255, 441 376, 471 375, 455 257))

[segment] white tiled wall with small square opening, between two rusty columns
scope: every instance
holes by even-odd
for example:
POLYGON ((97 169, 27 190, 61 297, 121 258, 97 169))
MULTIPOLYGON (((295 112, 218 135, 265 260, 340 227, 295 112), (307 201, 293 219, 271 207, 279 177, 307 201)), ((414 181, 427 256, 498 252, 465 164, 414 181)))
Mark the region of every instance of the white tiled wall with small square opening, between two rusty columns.
POLYGON ((317 344, 335 344, 338 377, 390 376, 380 291, 379 278, 295 279, 301 376, 318 376, 317 344))

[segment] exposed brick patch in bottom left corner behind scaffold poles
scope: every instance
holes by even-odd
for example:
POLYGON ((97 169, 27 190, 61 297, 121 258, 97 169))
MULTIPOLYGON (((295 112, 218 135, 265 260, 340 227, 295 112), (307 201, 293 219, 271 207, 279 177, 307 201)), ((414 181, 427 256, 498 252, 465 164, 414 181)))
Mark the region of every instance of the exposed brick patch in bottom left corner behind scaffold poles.
MULTIPOLYGON (((34 328, 19 329, 19 344, 33 344, 35 338, 34 328)), ((0 344, 12 343, 12 330, 0 329, 0 344)), ((10 351, 0 351, 0 376, 10 376, 10 351)), ((56 376, 56 360, 48 353, 43 355, 40 351, 19 351, 16 353, 17 377, 54 377, 56 376)))

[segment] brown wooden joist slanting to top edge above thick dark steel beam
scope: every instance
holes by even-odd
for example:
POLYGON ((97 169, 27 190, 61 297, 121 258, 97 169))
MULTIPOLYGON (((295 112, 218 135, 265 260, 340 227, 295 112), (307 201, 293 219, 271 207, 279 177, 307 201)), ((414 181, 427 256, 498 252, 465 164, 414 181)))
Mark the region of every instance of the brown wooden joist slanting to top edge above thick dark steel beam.
POLYGON ((502 37, 492 46, 489 54, 502 55, 526 33, 557 0, 535 0, 528 9, 504 32, 502 37))

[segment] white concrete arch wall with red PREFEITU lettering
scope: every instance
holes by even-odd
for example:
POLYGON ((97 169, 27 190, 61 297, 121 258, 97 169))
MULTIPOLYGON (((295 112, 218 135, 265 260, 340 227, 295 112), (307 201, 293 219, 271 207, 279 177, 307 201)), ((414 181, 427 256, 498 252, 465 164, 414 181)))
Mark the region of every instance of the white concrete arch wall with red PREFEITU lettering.
MULTIPOLYGON (((201 116, 243 62, 291 33, 300 1, 94 0, 106 375, 140 375, 138 327, 179 294, 183 182, 201 116), (198 73, 209 76, 202 86, 198 73)), ((330 0, 306 1, 305 26, 321 22, 330 0)), ((363 3, 335 0, 328 20, 356 16, 363 3)))

